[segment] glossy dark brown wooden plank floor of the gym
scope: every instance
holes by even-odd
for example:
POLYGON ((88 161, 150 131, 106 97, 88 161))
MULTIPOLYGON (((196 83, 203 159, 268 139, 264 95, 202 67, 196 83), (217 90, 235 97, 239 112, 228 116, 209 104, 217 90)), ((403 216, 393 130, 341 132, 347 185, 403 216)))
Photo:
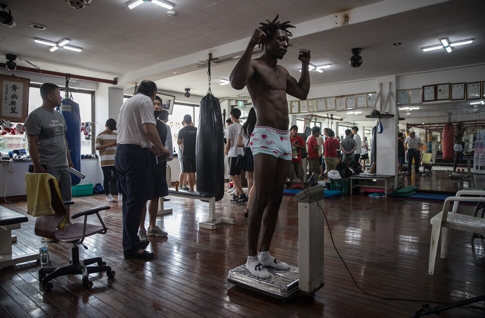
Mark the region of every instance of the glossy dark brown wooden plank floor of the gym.
MULTIPOLYGON (((411 317, 422 304, 437 306, 485 294, 485 241, 454 232, 448 258, 436 260, 435 274, 427 273, 429 219, 441 201, 369 198, 366 195, 326 199, 326 214, 334 243, 360 291, 339 259, 325 226, 325 285, 313 298, 287 302, 239 288, 226 276, 246 258, 246 220, 243 206, 216 203, 217 213, 236 218, 236 224, 215 230, 198 229, 207 218, 207 203, 171 197, 165 202, 173 214, 159 216, 167 238, 150 238, 153 261, 126 260, 121 247, 121 204, 107 203, 104 195, 74 197, 73 212, 110 204, 102 212, 105 235, 86 239, 81 258, 101 256, 116 271, 114 279, 93 274, 94 286, 82 287, 79 276, 59 277, 50 292, 39 289, 39 264, 26 262, 0 269, 0 317, 411 317), (376 295, 376 296, 374 296, 376 295), (415 300, 384 299, 412 298, 415 300)), ((25 202, 3 203, 24 212, 25 202)), ((467 206, 470 211, 474 206, 467 206)), ((13 250, 38 245, 34 218, 14 230, 13 250)), ((51 264, 65 264, 67 243, 48 243, 51 264)), ((271 252, 298 264, 297 204, 284 196, 271 252)), ((483 317, 481 307, 459 307, 441 317, 483 317)))

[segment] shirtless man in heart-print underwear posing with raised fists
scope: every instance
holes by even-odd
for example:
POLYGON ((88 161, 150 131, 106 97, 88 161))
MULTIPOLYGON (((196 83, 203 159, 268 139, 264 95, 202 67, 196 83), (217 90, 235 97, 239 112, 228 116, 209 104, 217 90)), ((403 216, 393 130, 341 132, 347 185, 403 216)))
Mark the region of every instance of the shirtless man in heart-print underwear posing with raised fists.
POLYGON ((308 64, 310 51, 300 49, 301 75, 298 81, 277 65, 288 49, 287 30, 294 27, 289 21, 277 21, 278 15, 267 23, 260 23, 247 44, 241 58, 230 74, 231 86, 247 90, 256 110, 256 126, 249 145, 254 154, 254 200, 249 210, 247 225, 248 253, 246 268, 256 277, 268 278, 264 266, 288 269, 289 265, 269 254, 269 245, 278 219, 283 186, 291 164, 291 143, 288 133, 288 102, 286 94, 306 99, 310 88, 308 64), (253 49, 261 44, 260 57, 251 59, 253 49), (262 222, 263 221, 263 222, 262 222), (262 222, 262 236, 257 241, 262 222))

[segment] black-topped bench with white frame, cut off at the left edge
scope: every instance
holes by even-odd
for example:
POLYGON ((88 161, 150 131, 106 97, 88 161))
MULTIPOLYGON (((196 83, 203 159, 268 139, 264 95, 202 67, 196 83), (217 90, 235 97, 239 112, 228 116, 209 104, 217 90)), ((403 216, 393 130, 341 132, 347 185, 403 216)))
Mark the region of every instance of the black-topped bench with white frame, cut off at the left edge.
POLYGON ((20 228, 20 223, 26 221, 28 221, 26 215, 0 206, 0 267, 39 259, 38 252, 23 255, 12 254, 12 242, 15 242, 17 237, 12 236, 11 230, 20 228))

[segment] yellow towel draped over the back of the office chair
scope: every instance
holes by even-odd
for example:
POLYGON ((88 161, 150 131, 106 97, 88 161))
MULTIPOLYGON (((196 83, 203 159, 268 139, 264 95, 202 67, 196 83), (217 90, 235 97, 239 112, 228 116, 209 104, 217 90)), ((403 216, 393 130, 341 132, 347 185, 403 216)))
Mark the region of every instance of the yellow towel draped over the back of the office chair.
POLYGON ((60 197, 60 190, 57 179, 49 173, 25 173, 25 188, 27 190, 27 214, 40 216, 54 214, 50 205, 50 186, 49 180, 53 179, 56 184, 55 189, 60 197))

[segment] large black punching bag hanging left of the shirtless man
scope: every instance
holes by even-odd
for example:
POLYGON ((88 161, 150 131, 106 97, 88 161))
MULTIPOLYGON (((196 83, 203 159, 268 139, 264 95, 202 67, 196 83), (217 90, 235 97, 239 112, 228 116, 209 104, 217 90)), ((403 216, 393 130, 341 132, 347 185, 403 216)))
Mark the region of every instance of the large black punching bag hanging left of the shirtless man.
POLYGON ((224 196, 224 134, 220 103, 212 93, 200 100, 200 116, 195 142, 197 191, 224 196))

